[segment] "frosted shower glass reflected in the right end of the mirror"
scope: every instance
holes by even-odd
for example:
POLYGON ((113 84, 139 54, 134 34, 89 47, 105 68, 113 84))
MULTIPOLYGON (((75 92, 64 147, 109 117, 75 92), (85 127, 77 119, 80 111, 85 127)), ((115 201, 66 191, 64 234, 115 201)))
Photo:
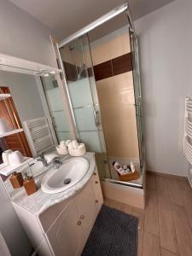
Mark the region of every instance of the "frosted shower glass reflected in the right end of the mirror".
POLYGON ((71 138, 69 125, 63 104, 61 102, 60 90, 54 75, 41 77, 44 95, 49 107, 51 122, 55 129, 58 143, 71 138))

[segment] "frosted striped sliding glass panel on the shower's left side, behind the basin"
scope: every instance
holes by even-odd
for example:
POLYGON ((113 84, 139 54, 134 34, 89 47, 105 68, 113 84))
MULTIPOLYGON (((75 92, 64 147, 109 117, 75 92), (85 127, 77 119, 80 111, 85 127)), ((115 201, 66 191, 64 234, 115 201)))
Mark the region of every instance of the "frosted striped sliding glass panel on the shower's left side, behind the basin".
POLYGON ((102 121, 96 83, 90 58, 90 46, 86 35, 66 44, 60 49, 61 60, 66 73, 79 142, 85 143, 88 151, 96 152, 96 162, 101 177, 105 177, 105 158, 102 121))

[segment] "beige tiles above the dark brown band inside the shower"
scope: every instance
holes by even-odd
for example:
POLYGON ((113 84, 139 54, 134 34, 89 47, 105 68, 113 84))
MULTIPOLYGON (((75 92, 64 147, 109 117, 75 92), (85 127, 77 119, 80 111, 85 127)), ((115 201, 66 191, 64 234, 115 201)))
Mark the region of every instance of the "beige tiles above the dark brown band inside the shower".
POLYGON ((131 52, 128 27, 122 27, 90 44, 93 65, 131 52))

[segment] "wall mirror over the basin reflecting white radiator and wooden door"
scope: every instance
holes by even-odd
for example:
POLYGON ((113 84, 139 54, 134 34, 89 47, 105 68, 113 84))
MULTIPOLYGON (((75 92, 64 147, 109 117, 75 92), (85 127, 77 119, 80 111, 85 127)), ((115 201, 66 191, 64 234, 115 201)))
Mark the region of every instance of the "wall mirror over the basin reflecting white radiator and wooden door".
POLYGON ((71 135, 55 76, 0 71, 0 175, 9 195, 15 193, 9 182, 13 172, 24 177, 31 170, 38 176, 46 169, 38 155, 44 153, 51 161, 55 154, 49 152, 67 139, 71 135), (20 132, 8 133, 18 128, 20 132))

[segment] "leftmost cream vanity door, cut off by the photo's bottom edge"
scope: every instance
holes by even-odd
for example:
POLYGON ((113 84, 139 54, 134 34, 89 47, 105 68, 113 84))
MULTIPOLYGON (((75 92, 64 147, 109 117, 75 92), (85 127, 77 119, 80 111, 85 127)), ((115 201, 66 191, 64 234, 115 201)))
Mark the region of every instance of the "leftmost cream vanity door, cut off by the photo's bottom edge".
POLYGON ((47 233, 55 256, 78 256, 84 246, 84 232, 73 200, 61 212, 47 233))

